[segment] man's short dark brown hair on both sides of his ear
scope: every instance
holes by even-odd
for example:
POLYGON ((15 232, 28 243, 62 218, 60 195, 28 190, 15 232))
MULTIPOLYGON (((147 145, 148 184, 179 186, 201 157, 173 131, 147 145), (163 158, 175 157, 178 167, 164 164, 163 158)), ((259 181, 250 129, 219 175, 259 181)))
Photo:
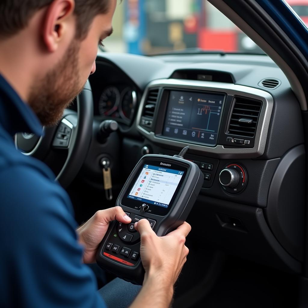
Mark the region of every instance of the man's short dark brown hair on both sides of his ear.
MULTIPOLYGON (((34 13, 54 0, 0 0, 0 38, 18 33, 34 13)), ((108 12, 110 0, 75 0, 76 38, 86 36, 93 18, 108 12)))

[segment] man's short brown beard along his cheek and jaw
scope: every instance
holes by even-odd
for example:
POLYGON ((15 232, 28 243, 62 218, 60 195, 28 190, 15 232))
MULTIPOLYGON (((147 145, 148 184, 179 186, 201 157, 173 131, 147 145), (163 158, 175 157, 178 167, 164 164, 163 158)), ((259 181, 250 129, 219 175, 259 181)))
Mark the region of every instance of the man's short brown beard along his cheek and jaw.
POLYGON ((73 40, 63 59, 31 88, 28 103, 42 125, 57 124, 64 109, 83 89, 79 80, 79 47, 73 40))

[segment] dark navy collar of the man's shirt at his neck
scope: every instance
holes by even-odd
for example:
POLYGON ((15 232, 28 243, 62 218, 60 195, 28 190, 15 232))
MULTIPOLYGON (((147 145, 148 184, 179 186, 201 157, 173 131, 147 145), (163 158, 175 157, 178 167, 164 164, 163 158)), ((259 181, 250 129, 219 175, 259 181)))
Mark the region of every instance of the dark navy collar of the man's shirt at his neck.
POLYGON ((1 74, 0 124, 11 136, 18 132, 43 135, 43 127, 38 117, 1 74))

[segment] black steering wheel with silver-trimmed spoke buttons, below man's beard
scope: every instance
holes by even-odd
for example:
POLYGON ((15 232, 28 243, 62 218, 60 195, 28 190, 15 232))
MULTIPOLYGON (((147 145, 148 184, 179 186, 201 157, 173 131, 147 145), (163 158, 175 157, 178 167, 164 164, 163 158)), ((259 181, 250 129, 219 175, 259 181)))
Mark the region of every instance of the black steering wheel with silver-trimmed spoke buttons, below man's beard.
POLYGON ((67 158, 56 177, 66 188, 79 172, 91 142, 93 96, 89 80, 77 96, 77 112, 65 109, 62 120, 54 127, 44 127, 44 136, 27 132, 15 135, 15 146, 24 155, 51 165, 58 157, 67 158), (66 153, 64 153, 66 151, 66 153))

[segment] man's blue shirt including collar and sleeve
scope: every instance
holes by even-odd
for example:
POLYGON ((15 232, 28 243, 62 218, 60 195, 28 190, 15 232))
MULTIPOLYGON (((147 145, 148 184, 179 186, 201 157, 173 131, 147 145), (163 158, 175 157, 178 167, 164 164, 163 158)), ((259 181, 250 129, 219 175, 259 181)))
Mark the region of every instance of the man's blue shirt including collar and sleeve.
POLYGON ((73 207, 41 161, 15 149, 14 134, 42 126, 0 75, 0 306, 105 307, 82 263, 73 207))

